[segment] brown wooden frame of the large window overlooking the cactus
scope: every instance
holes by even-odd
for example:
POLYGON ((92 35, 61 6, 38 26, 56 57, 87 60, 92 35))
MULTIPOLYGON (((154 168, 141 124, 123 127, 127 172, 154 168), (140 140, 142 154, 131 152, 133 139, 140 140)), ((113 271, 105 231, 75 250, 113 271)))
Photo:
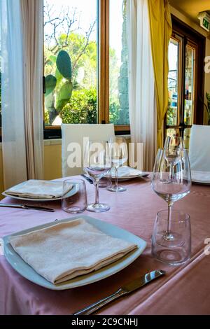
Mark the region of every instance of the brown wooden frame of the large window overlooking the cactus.
MULTIPOLYGON (((109 0, 110 1, 110 0, 109 0)), ((109 123, 109 1, 97 0, 98 6, 98 123, 109 123)), ((43 43, 44 51, 44 43, 43 43)), ((43 66, 43 90, 44 85, 44 66, 43 66)), ((43 113, 44 94, 43 94, 43 113)), ((130 125, 115 125, 115 133, 130 134, 130 125)), ((45 126, 43 120, 44 139, 61 139, 60 126, 45 126)))

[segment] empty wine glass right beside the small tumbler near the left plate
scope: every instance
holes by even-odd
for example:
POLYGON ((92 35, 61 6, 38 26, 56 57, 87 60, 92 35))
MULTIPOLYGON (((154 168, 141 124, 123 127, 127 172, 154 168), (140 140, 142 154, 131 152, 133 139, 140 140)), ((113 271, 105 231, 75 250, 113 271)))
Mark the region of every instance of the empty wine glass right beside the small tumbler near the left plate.
POLYGON ((87 141, 84 154, 84 170, 95 185, 95 202, 88 204, 88 211, 102 212, 110 209, 108 204, 99 203, 99 181, 111 169, 109 151, 108 141, 87 141))

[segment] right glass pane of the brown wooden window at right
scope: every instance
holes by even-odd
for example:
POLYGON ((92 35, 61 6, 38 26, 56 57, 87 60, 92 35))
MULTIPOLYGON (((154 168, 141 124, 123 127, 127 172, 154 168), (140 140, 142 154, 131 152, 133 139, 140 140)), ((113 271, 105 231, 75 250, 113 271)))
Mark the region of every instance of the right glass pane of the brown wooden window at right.
POLYGON ((184 123, 186 125, 193 124, 194 111, 194 63, 195 63, 195 49, 186 46, 186 88, 185 88, 185 111, 184 123))

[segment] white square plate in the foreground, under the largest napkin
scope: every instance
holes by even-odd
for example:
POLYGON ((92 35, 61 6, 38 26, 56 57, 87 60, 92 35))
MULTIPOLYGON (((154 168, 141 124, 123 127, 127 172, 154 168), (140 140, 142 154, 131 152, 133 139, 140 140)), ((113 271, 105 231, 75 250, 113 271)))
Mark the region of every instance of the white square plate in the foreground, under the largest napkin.
MULTIPOLYGON (((15 235, 22 235, 28 232, 32 232, 34 230, 39 230, 41 228, 48 228, 51 225, 55 225, 55 222, 38 225, 35 228, 30 228, 28 230, 23 230, 21 232, 17 232, 13 235, 8 235, 6 237, 3 237, 3 247, 4 247, 4 255, 6 257, 6 260, 10 263, 10 265, 22 276, 24 276, 26 279, 28 279, 31 282, 34 282, 38 284, 38 286, 43 286, 48 289, 52 290, 64 290, 64 289, 70 289, 75 288, 79 286, 85 286, 87 284, 105 279, 108 276, 111 276, 117 272, 119 272, 121 269, 124 269, 128 265, 130 265, 134 260, 136 260, 139 255, 144 251, 146 248, 146 241, 141 239, 140 237, 137 237, 136 235, 133 235, 132 233, 123 230, 122 228, 118 228, 115 225, 112 225, 110 223, 106 223, 104 221, 100 221, 96 218, 92 218, 90 216, 76 216, 73 218, 66 218, 61 221, 67 222, 69 220, 73 220, 76 218, 83 218, 87 223, 90 223, 94 225, 96 228, 101 230, 102 232, 106 233, 107 235, 111 235, 111 237, 117 237, 119 239, 124 239, 125 241, 130 241, 133 244, 137 244, 137 248, 125 255, 123 258, 120 258, 120 260, 117 260, 116 262, 113 262, 110 265, 107 265, 106 267, 103 267, 102 269, 98 269, 97 271, 77 276, 76 278, 73 278, 69 281, 62 282, 59 284, 53 284, 50 281, 43 278, 43 276, 39 275, 32 267, 30 267, 21 257, 16 253, 13 249, 13 247, 9 243, 9 239, 11 236, 15 235)), ((57 223, 59 223, 57 222, 57 223)), ((106 246, 104 246, 106 248, 106 246)), ((58 264, 59 266, 59 264, 58 264)))

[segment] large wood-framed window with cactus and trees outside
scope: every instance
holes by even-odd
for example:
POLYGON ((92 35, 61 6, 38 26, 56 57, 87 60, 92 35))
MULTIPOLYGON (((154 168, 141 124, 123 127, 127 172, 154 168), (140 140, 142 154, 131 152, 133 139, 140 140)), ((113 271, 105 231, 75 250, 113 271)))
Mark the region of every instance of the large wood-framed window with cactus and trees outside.
POLYGON ((130 130, 126 0, 43 1, 45 138, 61 123, 130 130))

